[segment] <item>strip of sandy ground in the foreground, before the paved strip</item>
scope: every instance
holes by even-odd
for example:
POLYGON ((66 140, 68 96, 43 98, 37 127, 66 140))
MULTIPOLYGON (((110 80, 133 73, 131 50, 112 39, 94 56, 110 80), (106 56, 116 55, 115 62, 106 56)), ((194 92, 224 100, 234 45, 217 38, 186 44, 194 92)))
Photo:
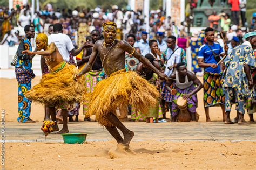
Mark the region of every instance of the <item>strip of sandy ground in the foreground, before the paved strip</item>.
POLYGON ((255 169, 256 143, 114 141, 85 144, 6 143, 6 169, 255 169), (110 154, 117 158, 111 159, 110 154))

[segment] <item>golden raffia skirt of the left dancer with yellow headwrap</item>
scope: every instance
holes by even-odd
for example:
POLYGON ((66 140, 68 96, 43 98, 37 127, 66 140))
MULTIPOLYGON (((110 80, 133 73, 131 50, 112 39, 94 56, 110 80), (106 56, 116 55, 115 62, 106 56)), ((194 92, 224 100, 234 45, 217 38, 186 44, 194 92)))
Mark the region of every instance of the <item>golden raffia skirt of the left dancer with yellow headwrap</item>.
POLYGON ((62 108, 63 105, 79 103, 84 100, 84 79, 75 81, 73 76, 79 70, 65 63, 59 63, 51 73, 45 74, 40 83, 27 91, 25 96, 32 101, 62 108))

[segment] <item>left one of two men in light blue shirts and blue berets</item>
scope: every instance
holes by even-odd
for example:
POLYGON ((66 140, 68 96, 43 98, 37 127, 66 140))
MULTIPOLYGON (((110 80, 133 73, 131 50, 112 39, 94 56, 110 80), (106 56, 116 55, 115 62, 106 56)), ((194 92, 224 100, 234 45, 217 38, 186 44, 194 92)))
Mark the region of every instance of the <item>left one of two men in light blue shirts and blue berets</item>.
POLYGON ((147 32, 142 31, 142 39, 136 41, 134 44, 135 48, 139 48, 143 56, 150 53, 149 42, 147 41, 147 32))

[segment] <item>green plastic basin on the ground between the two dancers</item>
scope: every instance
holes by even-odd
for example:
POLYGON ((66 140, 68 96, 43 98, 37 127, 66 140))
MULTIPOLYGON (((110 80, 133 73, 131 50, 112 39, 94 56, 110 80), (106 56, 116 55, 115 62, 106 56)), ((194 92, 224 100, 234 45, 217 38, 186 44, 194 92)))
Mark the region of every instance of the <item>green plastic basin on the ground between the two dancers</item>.
POLYGON ((82 144, 85 143, 86 133, 64 133, 61 134, 65 144, 82 144))

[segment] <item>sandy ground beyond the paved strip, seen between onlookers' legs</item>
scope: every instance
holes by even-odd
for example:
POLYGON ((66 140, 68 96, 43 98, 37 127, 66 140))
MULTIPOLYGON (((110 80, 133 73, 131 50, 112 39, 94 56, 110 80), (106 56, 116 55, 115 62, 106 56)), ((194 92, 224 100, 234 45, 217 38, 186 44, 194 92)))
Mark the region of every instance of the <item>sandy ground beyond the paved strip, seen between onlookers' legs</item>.
MULTIPOLYGON (((202 77, 199 77, 202 81, 202 77)), ((40 80, 40 77, 36 77, 32 80, 32 86, 37 84, 40 80)), ((18 117, 18 87, 16 79, 0 79, 0 108, 6 110, 6 121, 7 122, 16 122, 18 117)), ((199 91, 198 95, 198 108, 197 112, 200 115, 199 122, 205 122, 205 112, 203 106, 203 89, 199 91)), ((236 116, 234 110, 235 106, 233 105, 231 118, 233 119, 236 116)), ((84 115, 82 114, 82 108, 80 108, 79 120, 82 121, 84 115)), ((167 114, 170 117, 170 114, 167 114)), ((44 118, 44 107, 41 104, 36 104, 32 102, 31 107, 31 119, 35 121, 42 121, 44 118)), ((211 107, 210 108, 210 117, 212 121, 222 121, 223 116, 220 107, 211 107)), ((245 119, 248 120, 248 115, 245 115, 245 119)))

